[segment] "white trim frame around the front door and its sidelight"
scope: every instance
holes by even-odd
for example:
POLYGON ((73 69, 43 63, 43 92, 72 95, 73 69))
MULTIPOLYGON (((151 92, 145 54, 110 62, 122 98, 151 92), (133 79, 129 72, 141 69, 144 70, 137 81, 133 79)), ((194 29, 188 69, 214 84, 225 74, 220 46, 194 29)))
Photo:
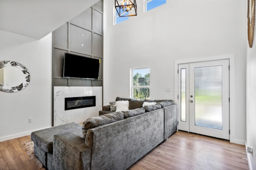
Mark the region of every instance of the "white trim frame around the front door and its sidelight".
MULTIPOLYGON (((184 60, 176 60, 174 61, 174 102, 178 104, 178 64, 186 64, 186 63, 197 63, 202 61, 216 61, 229 59, 230 70, 229 70, 229 90, 230 90, 230 103, 229 103, 229 126, 230 126, 230 142, 233 143, 241 143, 235 139, 235 55, 218 55, 211 57, 203 57, 203 58, 195 58, 195 59, 184 59, 184 60)), ((179 107, 178 107, 179 108, 179 107)), ((178 112, 177 112, 178 114, 178 112)), ((178 116, 178 115, 177 115, 178 116)), ((241 143, 242 144, 242 143, 241 143)))

